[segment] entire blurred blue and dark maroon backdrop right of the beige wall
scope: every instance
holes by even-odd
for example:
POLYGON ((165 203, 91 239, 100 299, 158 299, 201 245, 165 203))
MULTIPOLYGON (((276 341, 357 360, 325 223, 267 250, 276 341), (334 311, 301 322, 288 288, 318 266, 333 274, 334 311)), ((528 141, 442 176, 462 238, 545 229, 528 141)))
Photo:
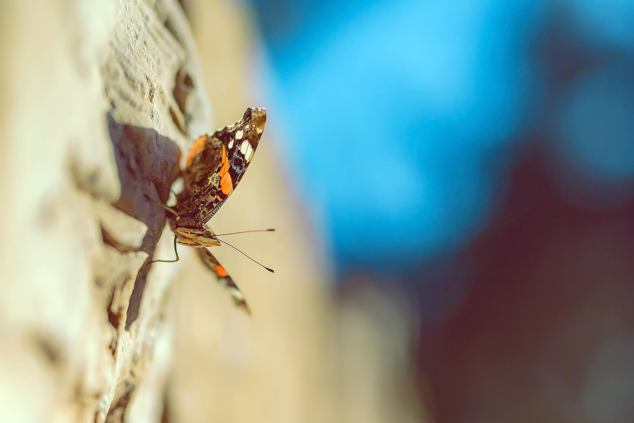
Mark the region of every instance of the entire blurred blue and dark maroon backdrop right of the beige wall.
POLYGON ((406 293, 432 421, 634 421, 634 1, 251 4, 339 295, 406 293))

